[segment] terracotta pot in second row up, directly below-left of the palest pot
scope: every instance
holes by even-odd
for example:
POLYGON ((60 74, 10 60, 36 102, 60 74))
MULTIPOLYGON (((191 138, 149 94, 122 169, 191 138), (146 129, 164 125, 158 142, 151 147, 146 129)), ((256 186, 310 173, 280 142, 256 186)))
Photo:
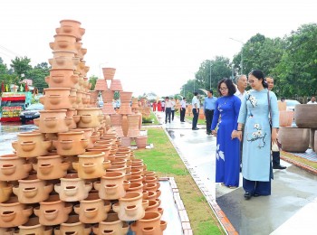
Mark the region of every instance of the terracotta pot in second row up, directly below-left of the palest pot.
POLYGON ((62 202, 58 194, 51 195, 47 200, 40 202, 39 207, 34 208, 34 214, 39 217, 42 225, 52 226, 68 220, 68 214, 72 211, 72 204, 62 202))

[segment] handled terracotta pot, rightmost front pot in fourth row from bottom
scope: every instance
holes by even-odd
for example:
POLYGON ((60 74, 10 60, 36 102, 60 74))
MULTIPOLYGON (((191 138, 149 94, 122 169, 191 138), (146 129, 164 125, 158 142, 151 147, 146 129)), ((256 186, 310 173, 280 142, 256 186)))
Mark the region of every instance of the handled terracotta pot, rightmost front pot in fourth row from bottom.
POLYGON ((110 161, 104 160, 104 153, 102 152, 86 152, 78 155, 78 158, 79 161, 72 163, 72 167, 82 179, 99 178, 111 166, 110 161))

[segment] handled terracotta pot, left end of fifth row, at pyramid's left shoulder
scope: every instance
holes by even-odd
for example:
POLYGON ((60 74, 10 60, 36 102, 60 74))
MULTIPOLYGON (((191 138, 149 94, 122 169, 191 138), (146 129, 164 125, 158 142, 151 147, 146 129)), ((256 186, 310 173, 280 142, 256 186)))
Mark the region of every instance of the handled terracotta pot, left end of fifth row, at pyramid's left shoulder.
POLYGON ((35 157, 46 155, 52 146, 52 141, 44 140, 42 133, 25 132, 17 134, 17 141, 12 146, 19 157, 35 157))

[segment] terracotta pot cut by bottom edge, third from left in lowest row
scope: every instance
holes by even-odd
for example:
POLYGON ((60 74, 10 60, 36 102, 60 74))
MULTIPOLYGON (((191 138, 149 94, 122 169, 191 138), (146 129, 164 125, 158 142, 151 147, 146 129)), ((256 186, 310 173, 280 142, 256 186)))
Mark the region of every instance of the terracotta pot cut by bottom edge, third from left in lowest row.
POLYGON ((95 224, 92 227, 94 234, 127 234, 129 230, 128 223, 120 221, 117 213, 108 213, 106 220, 101 221, 99 224, 95 224))

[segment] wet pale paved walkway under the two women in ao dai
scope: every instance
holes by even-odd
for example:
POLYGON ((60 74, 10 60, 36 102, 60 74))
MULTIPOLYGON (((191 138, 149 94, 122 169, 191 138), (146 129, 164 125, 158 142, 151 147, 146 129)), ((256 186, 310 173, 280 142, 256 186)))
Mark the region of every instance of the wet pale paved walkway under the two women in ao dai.
POLYGON ((216 199, 239 234, 317 234, 313 226, 317 215, 316 175, 282 162, 288 168, 274 170, 272 195, 245 201, 241 185, 232 190, 215 183, 216 137, 207 136, 206 127, 191 130, 191 124, 180 123, 178 117, 164 124, 163 115, 157 113, 162 127, 207 201, 213 204, 216 199))

